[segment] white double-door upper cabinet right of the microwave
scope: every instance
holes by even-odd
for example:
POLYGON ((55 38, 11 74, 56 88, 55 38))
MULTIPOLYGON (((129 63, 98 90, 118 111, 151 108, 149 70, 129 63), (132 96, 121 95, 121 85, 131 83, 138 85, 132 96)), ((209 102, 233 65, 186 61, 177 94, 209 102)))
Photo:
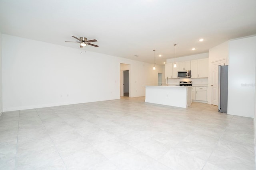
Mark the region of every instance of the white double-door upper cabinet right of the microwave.
POLYGON ((191 78, 208 77, 208 58, 191 61, 191 78))

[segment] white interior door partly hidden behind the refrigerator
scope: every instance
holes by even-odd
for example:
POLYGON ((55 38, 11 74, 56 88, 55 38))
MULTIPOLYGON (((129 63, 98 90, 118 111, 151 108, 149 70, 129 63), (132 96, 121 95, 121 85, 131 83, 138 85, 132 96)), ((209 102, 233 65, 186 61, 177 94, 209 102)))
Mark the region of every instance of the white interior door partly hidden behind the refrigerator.
POLYGON ((212 62, 212 84, 211 84, 211 92, 212 92, 212 104, 218 106, 218 76, 219 76, 219 67, 224 66, 226 64, 226 59, 222 59, 219 61, 212 62))

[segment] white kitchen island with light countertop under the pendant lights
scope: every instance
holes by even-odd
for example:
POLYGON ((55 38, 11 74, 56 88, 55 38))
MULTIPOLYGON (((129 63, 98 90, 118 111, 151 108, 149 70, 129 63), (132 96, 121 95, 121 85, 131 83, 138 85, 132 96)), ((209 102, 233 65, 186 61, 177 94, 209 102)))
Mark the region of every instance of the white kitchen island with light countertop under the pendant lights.
POLYGON ((187 108, 191 105, 191 86, 144 86, 145 102, 187 108))

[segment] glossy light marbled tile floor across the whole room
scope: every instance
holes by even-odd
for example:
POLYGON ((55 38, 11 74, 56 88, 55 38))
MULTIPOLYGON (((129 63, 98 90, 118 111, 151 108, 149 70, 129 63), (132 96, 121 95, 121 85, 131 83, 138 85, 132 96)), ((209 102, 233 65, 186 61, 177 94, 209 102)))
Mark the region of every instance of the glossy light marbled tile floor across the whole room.
POLYGON ((254 170, 253 119, 144 98, 4 112, 1 170, 254 170))

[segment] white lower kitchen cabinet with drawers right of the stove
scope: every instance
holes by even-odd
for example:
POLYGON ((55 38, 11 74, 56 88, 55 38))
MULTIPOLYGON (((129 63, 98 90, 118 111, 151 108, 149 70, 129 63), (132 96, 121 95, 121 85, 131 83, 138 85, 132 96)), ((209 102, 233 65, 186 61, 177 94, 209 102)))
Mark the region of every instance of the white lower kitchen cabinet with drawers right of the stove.
POLYGON ((207 87, 192 87, 192 100, 193 102, 207 102, 207 87))

